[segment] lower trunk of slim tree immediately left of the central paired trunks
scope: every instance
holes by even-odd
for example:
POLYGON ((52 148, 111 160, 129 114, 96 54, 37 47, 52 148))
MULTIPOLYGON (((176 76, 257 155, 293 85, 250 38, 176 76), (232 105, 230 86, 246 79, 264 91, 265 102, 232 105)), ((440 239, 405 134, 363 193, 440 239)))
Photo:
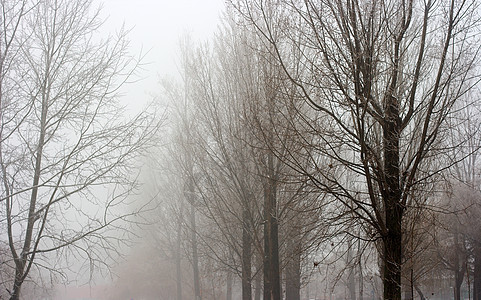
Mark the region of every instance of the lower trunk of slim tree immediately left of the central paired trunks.
POLYGON ((252 238, 249 211, 242 211, 242 300, 252 300, 252 238))

